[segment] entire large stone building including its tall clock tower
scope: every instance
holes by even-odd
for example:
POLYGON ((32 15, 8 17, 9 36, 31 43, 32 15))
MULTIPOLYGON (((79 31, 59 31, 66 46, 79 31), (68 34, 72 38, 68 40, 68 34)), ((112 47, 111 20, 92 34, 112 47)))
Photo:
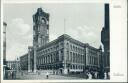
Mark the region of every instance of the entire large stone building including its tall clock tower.
POLYGON ((21 69, 28 72, 53 70, 62 74, 98 70, 100 52, 67 34, 49 42, 49 14, 41 8, 33 15, 33 46, 21 56, 21 69))

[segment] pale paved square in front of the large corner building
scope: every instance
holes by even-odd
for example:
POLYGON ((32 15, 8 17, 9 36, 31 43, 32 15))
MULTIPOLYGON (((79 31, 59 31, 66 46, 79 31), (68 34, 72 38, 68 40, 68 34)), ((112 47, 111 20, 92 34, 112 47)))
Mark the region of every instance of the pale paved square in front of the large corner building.
POLYGON ((47 79, 46 72, 42 73, 33 73, 33 72, 17 72, 14 76, 10 75, 6 80, 85 80, 87 76, 83 73, 81 74, 68 74, 68 75, 53 75, 49 73, 47 79))

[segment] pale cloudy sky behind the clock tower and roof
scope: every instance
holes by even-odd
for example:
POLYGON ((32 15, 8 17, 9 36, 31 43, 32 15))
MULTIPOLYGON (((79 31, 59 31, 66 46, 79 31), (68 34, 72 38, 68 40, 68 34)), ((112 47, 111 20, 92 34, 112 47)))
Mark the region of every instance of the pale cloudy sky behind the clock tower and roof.
POLYGON ((96 48, 101 45, 101 30, 104 27, 103 3, 4 4, 3 20, 7 23, 7 60, 14 60, 24 55, 28 51, 28 46, 32 46, 32 15, 39 7, 50 14, 50 41, 65 33, 96 48))

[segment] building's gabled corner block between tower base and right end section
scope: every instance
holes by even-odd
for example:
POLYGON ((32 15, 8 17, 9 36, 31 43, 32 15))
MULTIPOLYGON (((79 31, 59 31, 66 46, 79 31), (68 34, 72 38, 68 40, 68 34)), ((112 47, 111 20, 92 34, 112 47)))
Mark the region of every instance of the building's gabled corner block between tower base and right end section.
POLYGON ((82 72, 85 62, 84 44, 64 34, 38 50, 38 69, 60 73, 82 72))

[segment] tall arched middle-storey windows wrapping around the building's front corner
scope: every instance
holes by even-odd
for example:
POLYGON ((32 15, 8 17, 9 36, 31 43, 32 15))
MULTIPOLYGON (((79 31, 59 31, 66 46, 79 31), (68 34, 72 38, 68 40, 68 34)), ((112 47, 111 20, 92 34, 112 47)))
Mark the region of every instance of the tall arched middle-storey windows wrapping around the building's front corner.
MULTIPOLYGON (((64 60, 64 54, 63 54, 63 50, 60 51, 60 56, 59 56, 59 52, 55 52, 52 53, 50 55, 47 56, 41 56, 41 57, 37 57, 38 58, 38 64, 44 64, 44 63, 52 63, 52 62, 56 62, 56 61, 62 61, 64 60)), ((74 52, 69 52, 67 51, 67 62, 72 62, 72 63, 84 63, 84 55, 82 54, 78 54, 78 53, 74 53, 74 52)))

